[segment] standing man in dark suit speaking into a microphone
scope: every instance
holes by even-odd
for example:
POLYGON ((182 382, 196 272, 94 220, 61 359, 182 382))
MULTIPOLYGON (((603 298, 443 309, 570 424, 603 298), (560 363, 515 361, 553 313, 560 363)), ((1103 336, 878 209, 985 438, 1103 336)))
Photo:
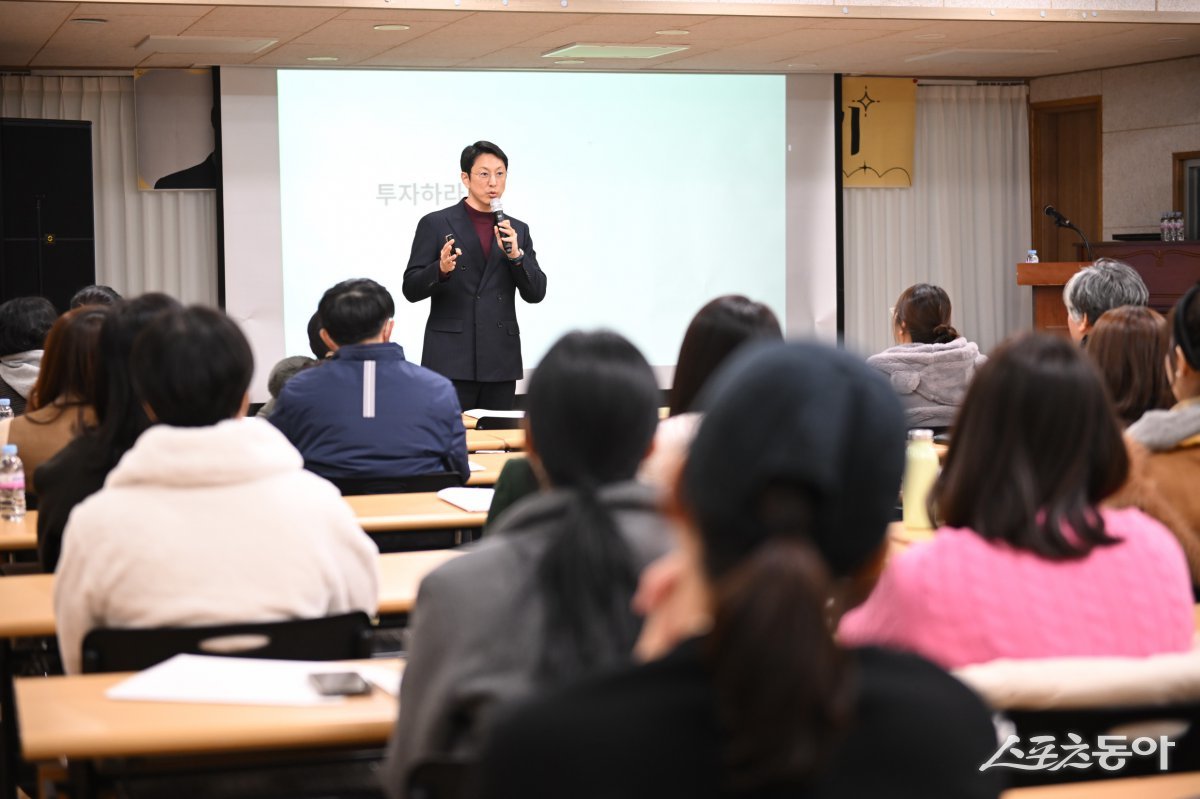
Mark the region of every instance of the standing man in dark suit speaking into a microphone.
POLYGON ((467 197, 416 224, 404 296, 430 298, 421 364, 450 378, 462 409, 508 410, 523 377, 516 294, 541 302, 546 275, 529 226, 511 217, 497 224, 492 214, 509 157, 491 142, 475 142, 460 167, 467 197))

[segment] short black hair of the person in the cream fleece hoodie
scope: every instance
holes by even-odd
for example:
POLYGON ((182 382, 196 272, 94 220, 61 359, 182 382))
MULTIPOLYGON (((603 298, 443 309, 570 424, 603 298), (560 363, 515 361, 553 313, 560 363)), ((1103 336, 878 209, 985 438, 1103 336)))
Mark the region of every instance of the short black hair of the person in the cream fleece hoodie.
POLYGON ((254 356, 238 323, 199 305, 155 317, 130 353, 138 400, 160 422, 174 427, 232 419, 253 373, 254 356))

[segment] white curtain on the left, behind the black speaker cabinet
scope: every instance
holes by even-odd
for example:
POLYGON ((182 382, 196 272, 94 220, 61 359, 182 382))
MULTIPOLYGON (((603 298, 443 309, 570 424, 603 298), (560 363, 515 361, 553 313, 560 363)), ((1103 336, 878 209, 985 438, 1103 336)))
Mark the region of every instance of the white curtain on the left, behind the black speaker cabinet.
POLYGON ((216 305, 216 192, 138 191, 132 77, 0 77, 0 116, 91 122, 96 282, 216 305))

